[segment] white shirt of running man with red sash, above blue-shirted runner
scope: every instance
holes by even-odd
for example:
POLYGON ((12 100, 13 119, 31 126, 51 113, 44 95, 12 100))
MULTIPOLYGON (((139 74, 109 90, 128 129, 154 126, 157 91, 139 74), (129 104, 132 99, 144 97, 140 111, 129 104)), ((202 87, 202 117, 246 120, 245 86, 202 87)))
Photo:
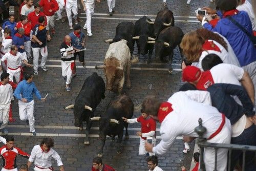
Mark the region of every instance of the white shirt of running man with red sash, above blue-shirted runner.
POLYGON ((18 68, 20 66, 20 60, 26 60, 26 58, 20 53, 17 52, 17 54, 14 56, 12 55, 10 52, 6 53, 2 59, 2 61, 7 60, 7 67, 12 68, 12 69, 17 69, 20 70, 20 68, 18 68))

